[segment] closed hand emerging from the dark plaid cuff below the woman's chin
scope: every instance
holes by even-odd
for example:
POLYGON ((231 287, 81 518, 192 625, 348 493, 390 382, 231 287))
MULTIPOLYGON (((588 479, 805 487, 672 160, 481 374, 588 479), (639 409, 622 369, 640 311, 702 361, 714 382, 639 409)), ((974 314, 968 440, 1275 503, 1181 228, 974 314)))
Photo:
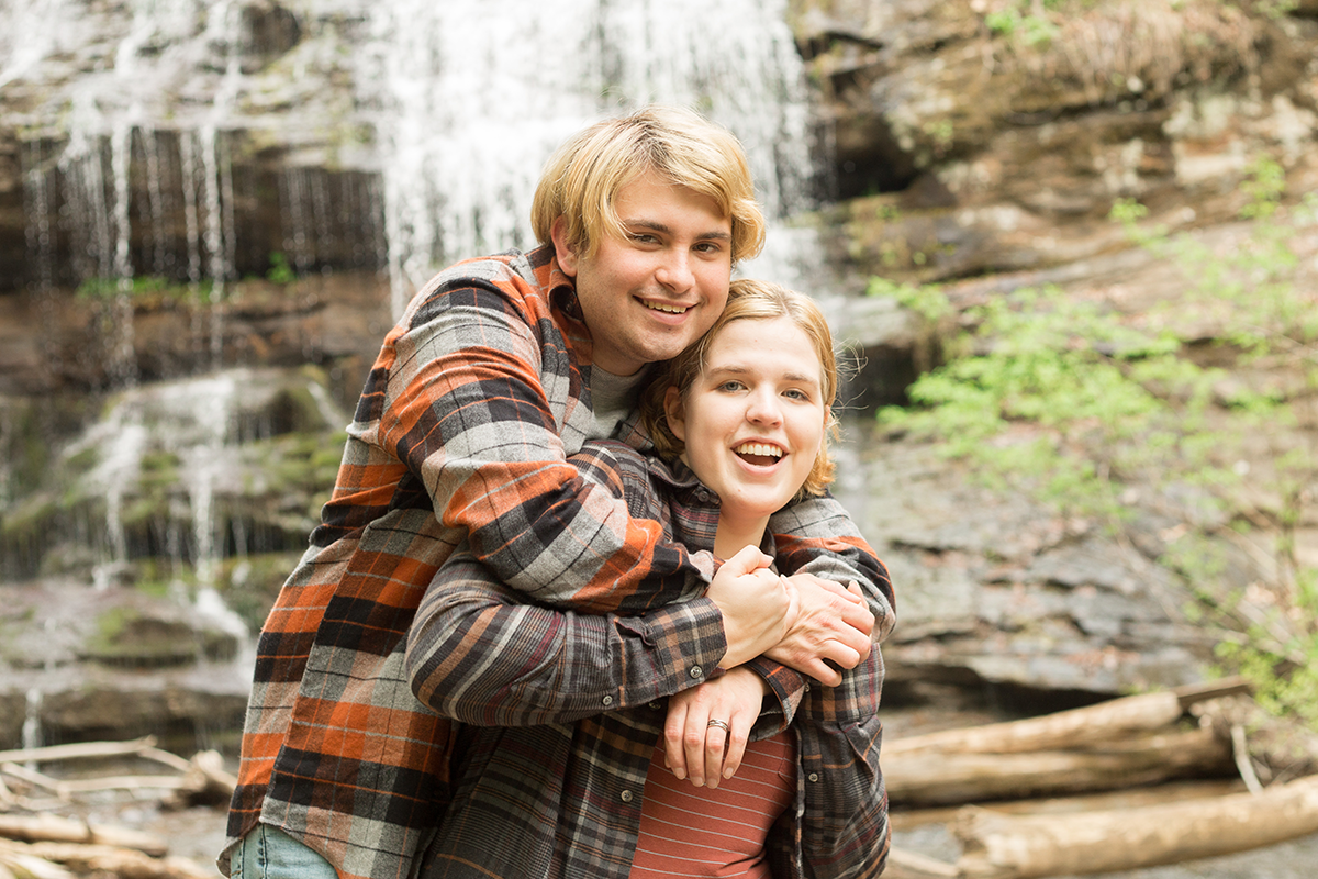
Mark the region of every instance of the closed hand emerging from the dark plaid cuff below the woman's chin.
POLYGON ((768 569, 771 561, 758 548, 745 547, 724 563, 705 590, 724 615, 728 652, 718 663, 722 668, 759 656, 792 630, 796 588, 768 569))

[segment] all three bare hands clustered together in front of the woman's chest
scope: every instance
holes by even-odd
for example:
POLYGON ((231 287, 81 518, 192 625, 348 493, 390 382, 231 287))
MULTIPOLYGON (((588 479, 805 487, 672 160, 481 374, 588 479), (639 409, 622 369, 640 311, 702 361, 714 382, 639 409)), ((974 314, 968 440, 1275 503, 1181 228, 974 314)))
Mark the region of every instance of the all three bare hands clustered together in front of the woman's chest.
POLYGON ((741 767, 768 684, 742 663, 764 655, 821 684, 842 683, 873 647, 874 614, 853 582, 813 575, 784 577, 746 547, 724 563, 706 597, 724 614, 726 673, 676 693, 664 722, 666 760, 679 779, 718 787, 741 767))

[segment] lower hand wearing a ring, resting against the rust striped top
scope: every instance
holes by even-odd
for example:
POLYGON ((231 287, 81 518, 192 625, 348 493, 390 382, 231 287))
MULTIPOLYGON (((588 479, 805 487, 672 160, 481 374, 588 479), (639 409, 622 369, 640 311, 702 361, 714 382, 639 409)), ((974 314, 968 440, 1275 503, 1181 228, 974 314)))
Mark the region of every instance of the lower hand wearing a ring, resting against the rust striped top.
POLYGON ((741 768, 751 726, 768 684, 747 668, 733 668, 699 687, 668 697, 664 722, 666 764, 696 787, 717 788, 741 768), (710 721, 722 721, 725 730, 710 721))

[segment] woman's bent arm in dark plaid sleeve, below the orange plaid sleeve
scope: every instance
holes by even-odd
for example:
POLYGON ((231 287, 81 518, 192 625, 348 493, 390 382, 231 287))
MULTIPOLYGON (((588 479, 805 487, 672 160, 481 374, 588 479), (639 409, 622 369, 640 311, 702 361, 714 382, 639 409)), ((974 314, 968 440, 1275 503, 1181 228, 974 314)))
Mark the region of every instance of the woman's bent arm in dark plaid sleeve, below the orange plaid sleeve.
MULTIPOLYGON (((767 588, 776 576, 766 575, 767 588)), ((436 576, 407 635, 413 692, 478 726, 573 722, 693 687, 724 658, 724 614, 705 597, 643 617, 527 604, 467 552, 436 576)))

